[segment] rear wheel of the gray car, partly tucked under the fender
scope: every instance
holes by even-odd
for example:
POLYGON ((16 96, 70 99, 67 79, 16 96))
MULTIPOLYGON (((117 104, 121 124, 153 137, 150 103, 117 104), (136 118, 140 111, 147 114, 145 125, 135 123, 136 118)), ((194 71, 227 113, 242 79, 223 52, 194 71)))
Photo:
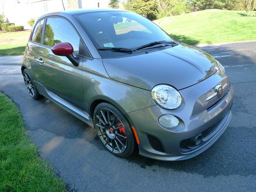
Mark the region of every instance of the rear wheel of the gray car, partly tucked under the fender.
POLYGON ((23 71, 23 79, 24 79, 24 83, 26 86, 26 89, 29 93, 29 95, 33 98, 33 99, 41 99, 42 96, 38 93, 35 84, 29 74, 29 71, 27 69, 24 69, 23 71))

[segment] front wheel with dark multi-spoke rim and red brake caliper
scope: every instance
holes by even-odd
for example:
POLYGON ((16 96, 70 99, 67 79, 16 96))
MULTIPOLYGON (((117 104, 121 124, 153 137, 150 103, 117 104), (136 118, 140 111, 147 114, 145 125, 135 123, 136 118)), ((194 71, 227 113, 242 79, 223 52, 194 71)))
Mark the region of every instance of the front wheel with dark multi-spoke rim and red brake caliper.
POLYGON ((93 114, 94 127, 100 141, 112 154, 126 158, 135 149, 132 127, 124 115, 110 103, 100 103, 93 114))

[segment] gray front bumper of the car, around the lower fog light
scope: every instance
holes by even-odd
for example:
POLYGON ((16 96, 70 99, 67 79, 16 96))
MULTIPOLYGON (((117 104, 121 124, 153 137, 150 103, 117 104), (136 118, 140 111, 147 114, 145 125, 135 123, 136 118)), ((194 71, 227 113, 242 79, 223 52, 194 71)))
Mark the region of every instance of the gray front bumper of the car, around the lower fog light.
POLYGON ((195 86, 180 90, 180 93, 183 103, 176 110, 164 110, 154 105, 126 114, 127 119, 137 130, 140 155, 167 161, 189 159, 204 152, 226 130, 231 120, 234 90, 224 74, 212 75, 195 86), (217 84, 225 83, 228 83, 228 86, 221 99, 205 101, 217 84), (158 123, 158 118, 163 114, 175 115, 179 118, 180 124, 172 129, 162 127, 158 123), (209 129, 211 132, 207 132, 209 129), (207 134, 199 145, 182 150, 184 141, 202 133, 207 134), (159 145, 160 150, 156 149, 159 145))

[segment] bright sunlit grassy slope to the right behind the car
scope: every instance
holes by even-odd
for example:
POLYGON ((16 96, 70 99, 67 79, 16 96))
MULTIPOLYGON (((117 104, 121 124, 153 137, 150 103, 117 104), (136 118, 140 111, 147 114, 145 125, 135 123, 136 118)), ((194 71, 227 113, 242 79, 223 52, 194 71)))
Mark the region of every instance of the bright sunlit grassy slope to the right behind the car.
POLYGON ((174 39, 190 45, 256 40, 256 16, 245 15, 243 11, 210 9, 154 22, 174 39))

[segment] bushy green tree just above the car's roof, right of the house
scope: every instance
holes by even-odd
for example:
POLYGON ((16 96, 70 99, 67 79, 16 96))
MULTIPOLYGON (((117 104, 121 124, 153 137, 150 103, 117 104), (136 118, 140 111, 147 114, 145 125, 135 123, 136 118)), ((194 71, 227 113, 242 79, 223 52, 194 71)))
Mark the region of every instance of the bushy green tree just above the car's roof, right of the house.
POLYGON ((157 0, 127 0, 123 6, 151 20, 157 17, 157 0))

